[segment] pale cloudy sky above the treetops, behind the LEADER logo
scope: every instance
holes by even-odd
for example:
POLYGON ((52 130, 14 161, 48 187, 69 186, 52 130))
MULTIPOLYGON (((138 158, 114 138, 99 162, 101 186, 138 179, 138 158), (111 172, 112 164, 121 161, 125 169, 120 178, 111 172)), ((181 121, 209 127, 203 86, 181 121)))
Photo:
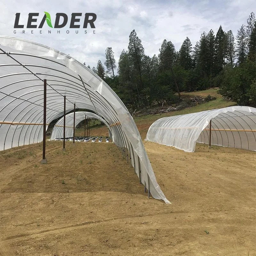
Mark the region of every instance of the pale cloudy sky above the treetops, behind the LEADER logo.
POLYGON ((256 12, 255 0, 1 0, 0 35, 47 45, 92 68, 97 66, 98 60, 105 62, 107 47, 112 47, 117 64, 122 50, 128 49, 129 35, 133 29, 142 41, 145 54, 152 57, 159 54, 164 39, 172 41, 178 51, 187 36, 194 46, 201 33, 208 33, 212 29, 216 35, 220 25, 224 31, 232 30, 236 36, 237 30, 247 24, 251 12, 256 12), (23 29, 13 28, 15 14, 18 12, 19 24, 24 24, 23 29), (33 23, 37 26, 44 12, 50 13, 53 24, 56 13, 66 13, 68 23, 60 29, 50 28, 46 22, 41 29, 26 28, 30 12, 39 13, 37 22, 33 23), (90 25, 87 29, 69 28, 73 12, 82 13, 80 22, 76 23, 81 27, 84 14, 95 13, 95 28, 90 28, 90 25), (25 34, 22 34, 22 30, 25 30, 25 34), (51 30, 51 34, 48 30, 51 30), (87 30, 87 34, 84 30, 87 30))

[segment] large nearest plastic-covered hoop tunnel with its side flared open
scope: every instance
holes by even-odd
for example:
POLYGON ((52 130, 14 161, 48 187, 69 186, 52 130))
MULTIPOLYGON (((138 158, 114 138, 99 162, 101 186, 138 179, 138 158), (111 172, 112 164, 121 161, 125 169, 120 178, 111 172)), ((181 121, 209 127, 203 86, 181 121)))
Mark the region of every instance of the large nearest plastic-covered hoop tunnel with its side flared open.
POLYGON ((130 155, 140 183, 156 199, 170 202, 156 177, 132 116, 115 92, 92 70, 71 56, 25 39, 0 36, 0 150, 43 140, 44 81, 46 123, 87 109, 111 127, 117 147, 130 155))

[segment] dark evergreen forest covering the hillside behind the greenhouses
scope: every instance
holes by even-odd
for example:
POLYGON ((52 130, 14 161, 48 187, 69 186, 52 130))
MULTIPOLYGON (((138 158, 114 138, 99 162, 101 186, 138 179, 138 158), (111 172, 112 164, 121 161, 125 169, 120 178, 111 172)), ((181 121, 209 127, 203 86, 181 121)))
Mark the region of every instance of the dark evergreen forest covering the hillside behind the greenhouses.
MULTIPOLYGON (((171 35, 170 35, 171 37, 171 35)), ((193 46, 188 37, 180 49, 164 39, 159 52, 147 56, 133 30, 128 49, 116 63, 112 47, 106 49, 105 67, 99 60, 92 70, 130 110, 175 104, 180 92, 219 87, 219 93, 238 105, 256 105, 256 21, 252 12, 236 38, 222 27, 203 32, 193 46), (115 72, 117 68, 117 72, 115 72), (115 73, 117 73, 115 75, 115 73)))

